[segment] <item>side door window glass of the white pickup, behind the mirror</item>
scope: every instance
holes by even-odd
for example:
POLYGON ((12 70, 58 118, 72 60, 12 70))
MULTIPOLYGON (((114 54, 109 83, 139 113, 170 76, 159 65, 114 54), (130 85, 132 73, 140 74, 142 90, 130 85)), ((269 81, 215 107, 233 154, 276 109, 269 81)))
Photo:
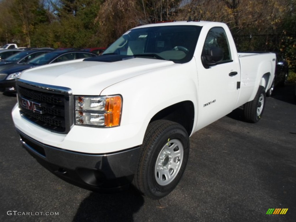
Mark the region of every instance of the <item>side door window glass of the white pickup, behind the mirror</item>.
POLYGON ((210 52, 210 49, 214 47, 218 47, 223 51, 221 63, 232 61, 226 33, 222 27, 211 28, 207 33, 207 37, 202 48, 202 56, 206 56, 210 52))

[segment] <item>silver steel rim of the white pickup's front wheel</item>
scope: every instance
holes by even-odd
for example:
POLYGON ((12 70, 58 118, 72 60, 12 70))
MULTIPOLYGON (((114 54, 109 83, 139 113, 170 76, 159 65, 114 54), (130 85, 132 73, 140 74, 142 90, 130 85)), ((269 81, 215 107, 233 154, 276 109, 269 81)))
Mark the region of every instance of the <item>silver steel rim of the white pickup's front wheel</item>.
POLYGON ((184 157, 184 147, 180 140, 172 139, 161 149, 155 163, 155 180, 157 184, 170 184, 178 175, 184 157))

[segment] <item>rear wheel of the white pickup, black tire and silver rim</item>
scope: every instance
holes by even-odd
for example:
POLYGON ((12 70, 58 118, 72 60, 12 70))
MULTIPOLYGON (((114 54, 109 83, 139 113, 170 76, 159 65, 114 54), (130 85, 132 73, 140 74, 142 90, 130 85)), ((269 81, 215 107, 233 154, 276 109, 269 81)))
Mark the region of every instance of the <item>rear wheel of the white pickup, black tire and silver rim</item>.
POLYGON ((257 123, 262 117, 265 107, 265 88, 259 86, 254 100, 244 104, 244 118, 250 123, 257 123))

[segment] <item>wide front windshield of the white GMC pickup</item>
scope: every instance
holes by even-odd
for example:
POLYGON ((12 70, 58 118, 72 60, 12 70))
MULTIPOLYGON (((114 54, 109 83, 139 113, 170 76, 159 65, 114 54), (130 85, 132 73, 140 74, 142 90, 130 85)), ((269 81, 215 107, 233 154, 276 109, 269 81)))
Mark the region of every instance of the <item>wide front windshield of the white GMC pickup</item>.
POLYGON ((168 25, 127 31, 102 55, 120 54, 135 57, 189 62, 194 54, 201 27, 168 25))

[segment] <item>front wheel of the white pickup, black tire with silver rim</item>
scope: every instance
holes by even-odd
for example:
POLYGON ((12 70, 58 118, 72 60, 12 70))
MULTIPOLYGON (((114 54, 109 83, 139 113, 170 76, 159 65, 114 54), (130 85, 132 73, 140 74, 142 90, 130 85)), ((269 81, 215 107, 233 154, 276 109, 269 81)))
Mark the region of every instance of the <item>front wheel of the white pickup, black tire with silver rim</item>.
POLYGON ((141 145, 133 184, 151 199, 168 195, 180 181, 188 156, 189 137, 183 126, 168 120, 150 123, 141 145))

